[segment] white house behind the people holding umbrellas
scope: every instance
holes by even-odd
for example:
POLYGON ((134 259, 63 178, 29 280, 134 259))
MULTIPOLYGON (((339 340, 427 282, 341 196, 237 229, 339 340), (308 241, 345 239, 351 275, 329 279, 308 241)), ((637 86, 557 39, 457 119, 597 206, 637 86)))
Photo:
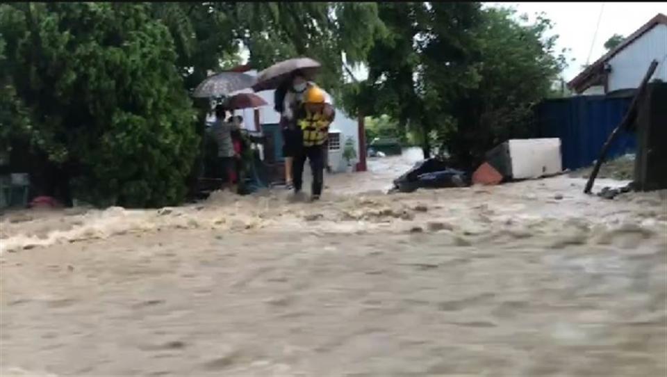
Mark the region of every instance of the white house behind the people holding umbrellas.
MULTIPOLYGON (((245 70, 242 67, 235 69, 236 72, 243 72, 251 76, 256 76, 256 70, 245 70)), ((262 97, 267 102, 266 106, 255 109, 245 109, 235 111, 235 115, 241 115, 244 120, 244 125, 249 131, 259 131, 260 129, 267 129, 275 127, 280 121, 280 114, 273 109, 273 97, 275 90, 265 90, 263 92, 255 93, 262 97)), ((252 89, 239 90, 237 93, 254 93, 252 89)), ((335 104, 334 104, 335 106, 335 104)), ((342 172, 346 170, 347 162, 343 159, 343 148, 345 141, 352 138, 354 150, 356 152, 356 160, 352 161, 355 166, 359 163, 361 156, 360 151, 363 151, 359 138, 359 122, 355 118, 347 115, 343 109, 336 107, 336 119, 330 127, 329 139, 329 166, 334 172, 342 172)), ((281 146, 277 146, 280 148, 281 146)))

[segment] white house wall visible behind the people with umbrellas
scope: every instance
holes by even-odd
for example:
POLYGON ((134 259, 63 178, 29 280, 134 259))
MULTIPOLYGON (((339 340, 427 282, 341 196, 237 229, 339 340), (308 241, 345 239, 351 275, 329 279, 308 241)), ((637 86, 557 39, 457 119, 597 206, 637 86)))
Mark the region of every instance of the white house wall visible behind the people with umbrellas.
MULTIPOLYGON (((244 72, 245 74, 249 74, 251 76, 256 76, 257 71, 252 70, 248 72, 244 72)), ((265 100, 267 105, 262 106, 259 109, 259 121, 261 125, 275 125, 280 122, 280 114, 273 109, 273 96, 274 96, 275 90, 264 90, 259 93, 255 93, 259 97, 262 97, 262 99, 265 100)), ((238 93, 253 93, 252 89, 245 89, 245 90, 239 90, 238 93)), ((244 122, 244 127, 249 129, 249 130, 255 130, 255 125, 254 125, 254 110, 253 109, 247 109, 245 111, 236 111, 235 115, 241 115, 243 117, 244 122)), ((352 163, 356 163, 359 161, 359 124, 356 120, 356 118, 351 118, 349 115, 347 115, 343 109, 336 108, 336 119, 330 126, 331 131, 340 131, 340 143, 341 143, 341 151, 343 146, 345 145, 345 141, 347 138, 352 138, 354 141, 354 150, 356 151, 357 159, 356 161, 352 161, 352 163)), ((338 159, 332 158, 331 161, 336 161, 338 159)), ((347 165, 345 161, 340 159, 340 166, 332 166, 331 168, 334 171, 343 171, 345 170, 345 166, 347 165)))

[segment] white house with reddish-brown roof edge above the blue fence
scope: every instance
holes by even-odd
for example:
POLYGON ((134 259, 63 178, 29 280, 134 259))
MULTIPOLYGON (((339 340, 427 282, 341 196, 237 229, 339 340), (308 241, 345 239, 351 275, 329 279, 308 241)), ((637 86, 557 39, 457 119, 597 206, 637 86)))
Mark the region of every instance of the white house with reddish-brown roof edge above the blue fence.
POLYGON ((639 87, 653 60, 652 80, 667 82, 667 16, 659 13, 568 83, 579 94, 608 94, 639 87))

